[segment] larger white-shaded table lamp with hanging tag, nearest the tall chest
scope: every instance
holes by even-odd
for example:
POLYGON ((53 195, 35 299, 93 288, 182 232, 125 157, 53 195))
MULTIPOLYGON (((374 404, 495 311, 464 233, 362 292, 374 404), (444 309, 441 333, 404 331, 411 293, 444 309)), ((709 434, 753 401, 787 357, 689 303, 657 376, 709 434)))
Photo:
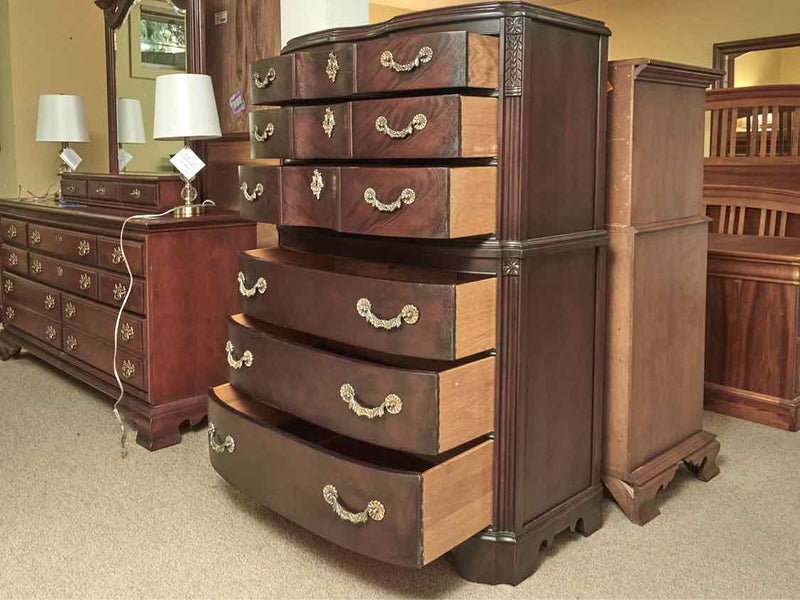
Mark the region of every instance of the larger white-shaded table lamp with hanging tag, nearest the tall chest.
POLYGON ((183 150, 171 162, 181 172, 186 185, 181 190, 184 205, 173 214, 191 217, 204 211, 195 204, 195 175, 205 166, 189 148, 189 140, 207 140, 222 135, 211 77, 195 73, 176 73, 156 77, 153 139, 183 140, 183 150))

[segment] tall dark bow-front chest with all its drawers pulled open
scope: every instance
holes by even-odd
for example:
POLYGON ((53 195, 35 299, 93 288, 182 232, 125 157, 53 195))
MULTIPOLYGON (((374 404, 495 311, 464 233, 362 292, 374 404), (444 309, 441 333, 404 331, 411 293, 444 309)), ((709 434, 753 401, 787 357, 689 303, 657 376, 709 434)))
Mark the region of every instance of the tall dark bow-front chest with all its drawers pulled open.
POLYGON ((601 524, 602 23, 521 2, 323 31, 251 65, 230 484, 337 544, 516 584, 601 524))

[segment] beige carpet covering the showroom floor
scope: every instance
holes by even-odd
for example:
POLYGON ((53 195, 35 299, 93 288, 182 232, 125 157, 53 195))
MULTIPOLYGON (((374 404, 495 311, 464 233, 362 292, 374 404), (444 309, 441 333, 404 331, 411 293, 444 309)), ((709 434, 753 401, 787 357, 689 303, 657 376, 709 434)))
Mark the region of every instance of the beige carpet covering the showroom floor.
POLYGON ((120 460, 110 401, 31 357, 0 363, 0 423, 2 599, 800 596, 800 433, 711 413, 720 476, 681 469, 644 528, 606 500, 516 588, 316 538, 218 477, 204 430, 120 460))

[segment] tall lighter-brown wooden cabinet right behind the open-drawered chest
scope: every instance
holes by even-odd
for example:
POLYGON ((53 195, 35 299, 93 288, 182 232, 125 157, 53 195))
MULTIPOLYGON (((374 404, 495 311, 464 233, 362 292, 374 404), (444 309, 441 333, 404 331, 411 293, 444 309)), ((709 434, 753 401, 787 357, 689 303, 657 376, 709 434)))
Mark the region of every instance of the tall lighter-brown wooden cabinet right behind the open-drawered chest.
POLYGON ((633 522, 685 461, 719 472, 703 430, 705 88, 719 74, 648 59, 609 65, 610 235, 603 480, 633 522))

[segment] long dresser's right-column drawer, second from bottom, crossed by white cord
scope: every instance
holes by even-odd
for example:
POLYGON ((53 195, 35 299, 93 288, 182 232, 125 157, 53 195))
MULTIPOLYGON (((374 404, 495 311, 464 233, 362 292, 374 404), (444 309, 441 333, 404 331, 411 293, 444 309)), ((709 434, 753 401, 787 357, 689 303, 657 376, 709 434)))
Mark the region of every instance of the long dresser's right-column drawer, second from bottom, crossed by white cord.
MULTIPOLYGON (((61 316, 65 324, 107 342, 114 342, 117 311, 77 296, 64 294, 61 299, 61 316)), ((147 347, 145 320, 128 313, 119 322, 119 347, 144 354, 147 347)))

